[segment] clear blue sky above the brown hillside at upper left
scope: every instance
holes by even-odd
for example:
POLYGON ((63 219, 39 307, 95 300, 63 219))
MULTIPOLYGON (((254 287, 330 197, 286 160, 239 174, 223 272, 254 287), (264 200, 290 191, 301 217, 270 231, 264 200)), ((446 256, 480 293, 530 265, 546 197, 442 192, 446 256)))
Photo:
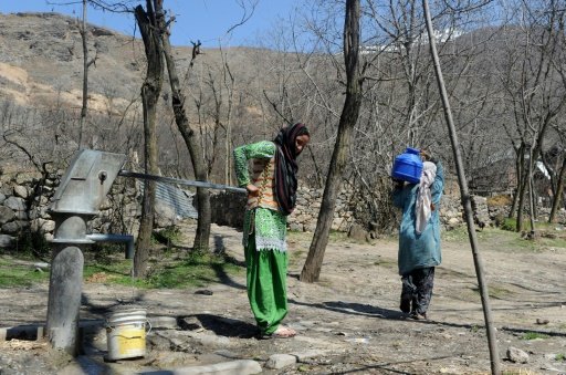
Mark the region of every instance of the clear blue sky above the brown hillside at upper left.
MULTIPOLYGON (((251 18, 237 27, 230 34, 227 31, 240 23, 244 10, 240 4, 254 0, 164 0, 164 9, 175 14, 170 41, 174 45, 192 45, 200 40, 205 48, 253 45, 258 35, 268 31, 271 24, 287 19, 301 0, 258 0, 251 18)), ((109 2, 109 0, 107 0, 109 2)), ((135 1, 129 1, 135 4, 135 1)), ((145 7, 145 1, 138 1, 145 7)), ((0 0, 1 13, 57 12, 82 18, 81 0, 0 0)), ((132 13, 112 13, 88 7, 86 18, 90 23, 132 35, 135 19, 132 13)))

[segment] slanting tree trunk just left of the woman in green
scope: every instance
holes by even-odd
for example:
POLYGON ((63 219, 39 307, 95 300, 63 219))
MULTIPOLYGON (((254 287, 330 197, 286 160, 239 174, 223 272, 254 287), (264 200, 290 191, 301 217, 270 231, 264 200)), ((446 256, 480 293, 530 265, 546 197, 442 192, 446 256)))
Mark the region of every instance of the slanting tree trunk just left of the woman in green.
MULTIPOLYGON (((158 14, 159 29, 161 32, 161 41, 164 48, 165 60, 167 62, 167 72, 169 74, 169 83, 171 85, 171 103, 175 113, 175 122, 181 133, 182 139, 189 149, 190 158, 192 162, 192 170, 195 178, 198 181, 207 181, 207 166, 205 163, 205 153, 201 144, 189 125, 189 119, 185 111, 185 96, 181 93, 179 76, 175 65, 175 59, 171 52, 171 44, 169 42, 169 33, 167 31, 165 14, 161 7, 161 1, 157 1, 156 13, 158 14)), ((193 250, 208 251, 210 238, 210 194, 207 188, 197 188, 197 209, 199 218, 197 222, 197 233, 195 235, 193 250)))

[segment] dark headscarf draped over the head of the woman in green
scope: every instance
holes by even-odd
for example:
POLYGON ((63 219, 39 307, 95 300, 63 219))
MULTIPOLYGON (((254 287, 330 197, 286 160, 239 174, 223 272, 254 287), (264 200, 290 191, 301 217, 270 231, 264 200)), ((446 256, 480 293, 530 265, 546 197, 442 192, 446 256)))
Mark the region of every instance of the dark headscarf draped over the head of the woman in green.
POLYGON ((296 164, 295 139, 300 135, 310 135, 304 124, 296 123, 282 128, 273 143, 277 146, 275 153, 275 196, 283 215, 290 215, 296 204, 296 164))

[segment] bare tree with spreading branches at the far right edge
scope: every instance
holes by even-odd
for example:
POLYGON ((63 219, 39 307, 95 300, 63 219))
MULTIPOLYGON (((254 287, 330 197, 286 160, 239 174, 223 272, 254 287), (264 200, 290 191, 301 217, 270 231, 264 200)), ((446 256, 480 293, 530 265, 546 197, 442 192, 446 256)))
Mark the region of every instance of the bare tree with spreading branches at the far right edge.
POLYGON ((510 43, 502 63, 503 87, 512 105, 513 123, 506 126, 516 153, 516 230, 523 230, 525 200, 534 232, 533 170, 543 150, 552 122, 566 104, 566 73, 563 52, 566 10, 558 2, 521 1, 520 28, 510 28, 516 44, 510 43), (531 188, 530 188, 531 187, 531 188), (528 191, 528 195, 527 195, 528 191))

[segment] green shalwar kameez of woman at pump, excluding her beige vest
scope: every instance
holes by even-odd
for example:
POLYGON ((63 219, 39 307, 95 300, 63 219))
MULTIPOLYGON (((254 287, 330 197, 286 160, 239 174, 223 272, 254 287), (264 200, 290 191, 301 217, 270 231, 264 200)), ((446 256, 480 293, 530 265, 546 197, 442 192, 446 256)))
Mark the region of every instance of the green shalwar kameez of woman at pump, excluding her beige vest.
MULTIPOLYGON (((268 140, 235 148, 238 185, 245 187, 251 183, 248 160, 264 159, 269 163, 275 150, 275 144, 268 140)), ((272 199, 276 199, 274 195, 272 199)), ((261 334, 275 332, 287 314, 285 237, 286 217, 280 210, 269 205, 264 207, 261 202, 245 210, 243 246, 248 299, 261 334)))

